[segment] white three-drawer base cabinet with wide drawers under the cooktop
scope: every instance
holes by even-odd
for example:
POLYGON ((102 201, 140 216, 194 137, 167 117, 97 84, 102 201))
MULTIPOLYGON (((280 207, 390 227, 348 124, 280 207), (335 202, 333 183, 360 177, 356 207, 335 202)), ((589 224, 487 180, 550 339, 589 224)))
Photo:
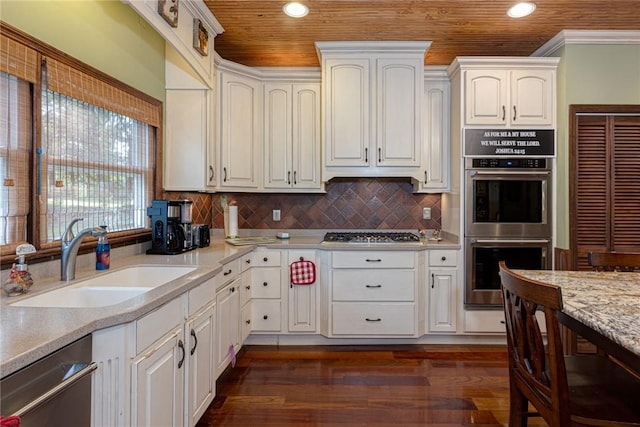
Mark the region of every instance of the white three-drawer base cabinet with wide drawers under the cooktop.
POLYGON ((417 252, 334 251, 330 336, 418 336, 417 252))

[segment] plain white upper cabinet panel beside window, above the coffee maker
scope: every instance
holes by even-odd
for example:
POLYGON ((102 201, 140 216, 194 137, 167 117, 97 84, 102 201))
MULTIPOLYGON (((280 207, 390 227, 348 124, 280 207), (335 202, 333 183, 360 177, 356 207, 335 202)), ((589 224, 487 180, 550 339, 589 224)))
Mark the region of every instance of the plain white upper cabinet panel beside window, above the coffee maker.
POLYGON ((215 149, 210 129, 209 90, 166 92, 164 188, 172 191, 213 191, 215 149))

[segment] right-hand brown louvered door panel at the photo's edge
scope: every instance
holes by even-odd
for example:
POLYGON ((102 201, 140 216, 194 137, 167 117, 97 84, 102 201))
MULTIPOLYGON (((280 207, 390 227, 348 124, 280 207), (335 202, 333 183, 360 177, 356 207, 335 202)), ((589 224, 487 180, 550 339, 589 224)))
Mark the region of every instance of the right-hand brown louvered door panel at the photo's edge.
POLYGON ((613 119, 610 250, 640 252, 640 117, 613 119))

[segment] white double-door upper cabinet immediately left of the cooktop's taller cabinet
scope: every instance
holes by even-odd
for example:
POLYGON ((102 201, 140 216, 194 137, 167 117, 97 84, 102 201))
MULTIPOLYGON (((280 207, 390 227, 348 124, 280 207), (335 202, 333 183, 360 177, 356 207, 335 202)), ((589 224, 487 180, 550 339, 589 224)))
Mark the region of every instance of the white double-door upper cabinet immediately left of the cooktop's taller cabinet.
POLYGON ((320 83, 264 84, 265 190, 320 190, 320 83))

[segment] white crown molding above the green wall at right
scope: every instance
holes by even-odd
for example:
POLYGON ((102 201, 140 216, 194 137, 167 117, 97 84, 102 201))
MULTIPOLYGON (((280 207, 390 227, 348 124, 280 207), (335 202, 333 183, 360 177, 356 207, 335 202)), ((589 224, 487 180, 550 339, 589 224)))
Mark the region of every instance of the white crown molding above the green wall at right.
POLYGON ((562 30, 540 46, 531 56, 550 56, 566 45, 640 44, 640 31, 562 30))

